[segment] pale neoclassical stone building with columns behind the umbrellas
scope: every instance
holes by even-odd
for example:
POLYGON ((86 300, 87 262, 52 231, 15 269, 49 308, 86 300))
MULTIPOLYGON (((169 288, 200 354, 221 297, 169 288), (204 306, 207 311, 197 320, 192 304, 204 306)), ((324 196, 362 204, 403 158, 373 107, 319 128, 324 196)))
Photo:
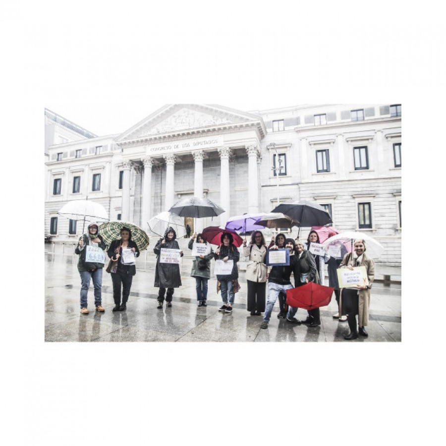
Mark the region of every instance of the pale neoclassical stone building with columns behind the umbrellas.
MULTIPOLYGON (((239 111, 173 104, 123 133, 98 137, 45 111, 45 235, 75 239, 57 216, 69 200, 101 203, 111 220, 146 228, 180 198, 225 213, 195 230, 278 202, 318 202, 339 230, 370 232, 381 261, 401 264, 401 105, 317 105, 239 111)), ((306 235, 308 230, 304 230, 306 235)))

